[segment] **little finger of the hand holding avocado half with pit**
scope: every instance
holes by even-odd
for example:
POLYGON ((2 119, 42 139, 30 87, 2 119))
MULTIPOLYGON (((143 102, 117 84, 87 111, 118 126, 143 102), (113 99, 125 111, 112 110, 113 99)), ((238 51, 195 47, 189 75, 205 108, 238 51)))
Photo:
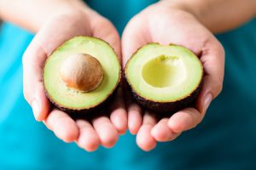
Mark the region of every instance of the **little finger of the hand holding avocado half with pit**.
POLYGON ((113 104, 110 106, 110 120, 113 126, 116 127, 119 134, 124 134, 127 129, 127 113, 123 100, 122 88, 117 89, 117 94, 113 99, 113 104))

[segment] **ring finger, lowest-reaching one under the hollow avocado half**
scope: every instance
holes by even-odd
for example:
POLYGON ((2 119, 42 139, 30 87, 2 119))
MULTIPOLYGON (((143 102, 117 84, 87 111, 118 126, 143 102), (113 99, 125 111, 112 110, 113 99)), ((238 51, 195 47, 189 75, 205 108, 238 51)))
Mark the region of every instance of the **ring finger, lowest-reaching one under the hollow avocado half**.
POLYGON ((154 149, 156 146, 156 140, 151 135, 151 129, 156 124, 156 119, 154 116, 146 113, 143 116, 143 126, 140 127, 137 133, 137 145, 145 151, 154 149))

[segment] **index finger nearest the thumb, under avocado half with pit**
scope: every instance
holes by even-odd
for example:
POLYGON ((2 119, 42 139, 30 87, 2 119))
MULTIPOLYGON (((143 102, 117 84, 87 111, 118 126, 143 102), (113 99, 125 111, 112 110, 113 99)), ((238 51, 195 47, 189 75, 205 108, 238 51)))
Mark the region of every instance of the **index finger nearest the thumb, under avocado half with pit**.
POLYGON ((59 139, 65 142, 73 142, 79 138, 79 127, 76 122, 63 111, 57 109, 51 111, 45 123, 59 139))

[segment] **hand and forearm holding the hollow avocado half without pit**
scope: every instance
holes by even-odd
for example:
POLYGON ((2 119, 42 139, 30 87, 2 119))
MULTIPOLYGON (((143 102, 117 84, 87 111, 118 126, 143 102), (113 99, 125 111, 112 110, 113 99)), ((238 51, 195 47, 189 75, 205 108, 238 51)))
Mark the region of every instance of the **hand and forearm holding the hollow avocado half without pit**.
POLYGON ((128 127, 137 134, 137 145, 142 150, 154 149, 157 142, 172 141, 202 121, 224 80, 224 49, 212 32, 240 26, 255 15, 255 9, 253 0, 166 0, 131 19, 122 37, 124 65, 137 48, 148 42, 174 43, 191 49, 201 59, 205 72, 195 108, 185 108, 170 117, 158 119, 126 99, 128 127))

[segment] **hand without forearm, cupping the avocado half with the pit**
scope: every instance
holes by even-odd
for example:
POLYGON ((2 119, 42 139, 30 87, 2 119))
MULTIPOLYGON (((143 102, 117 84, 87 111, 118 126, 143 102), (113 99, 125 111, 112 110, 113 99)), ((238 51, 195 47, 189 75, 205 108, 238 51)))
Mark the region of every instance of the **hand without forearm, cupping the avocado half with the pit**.
MULTIPOLYGON (((42 67, 55 48, 75 36, 99 37, 109 42, 120 56, 118 32, 113 25, 90 8, 74 9, 51 17, 32 40, 23 56, 24 95, 32 106, 36 120, 43 121, 55 135, 65 142, 75 141, 84 150, 92 151, 102 144, 112 147, 125 133, 127 117, 122 92, 108 106, 107 116, 99 116, 90 122, 74 121, 67 113, 50 110, 49 99, 44 94, 42 67)), ((103 112, 103 111, 102 111, 103 112)), ((104 114, 103 114, 104 115, 104 114)))

